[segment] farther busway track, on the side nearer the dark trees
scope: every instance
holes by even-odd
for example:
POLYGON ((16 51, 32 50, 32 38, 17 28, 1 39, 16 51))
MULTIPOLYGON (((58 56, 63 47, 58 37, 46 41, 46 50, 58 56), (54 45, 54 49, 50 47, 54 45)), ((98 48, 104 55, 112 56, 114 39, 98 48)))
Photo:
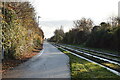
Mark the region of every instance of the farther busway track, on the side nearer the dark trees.
POLYGON ((83 49, 83 48, 81 49, 80 47, 68 46, 68 45, 62 45, 62 46, 72 48, 75 50, 77 49, 78 51, 81 51, 81 53, 84 53, 86 55, 94 56, 96 58, 120 65, 120 57, 117 55, 116 55, 116 57, 114 56, 114 58, 111 58, 112 55, 108 55, 109 53, 107 53, 107 55, 106 55, 104 53, 99 53, 99 51, 95 51, 95 50, 91 51, 90 49, 83 49))

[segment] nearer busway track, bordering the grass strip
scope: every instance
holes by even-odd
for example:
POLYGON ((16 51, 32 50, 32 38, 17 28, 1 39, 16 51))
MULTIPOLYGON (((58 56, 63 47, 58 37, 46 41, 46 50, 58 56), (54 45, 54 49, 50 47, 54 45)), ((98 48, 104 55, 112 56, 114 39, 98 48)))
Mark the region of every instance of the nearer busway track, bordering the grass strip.
POLYGON ((68 48, 68 47, 65 47, 65 46, 60 45, 60 44, 59 44, 59 45, 58 45, 58 44, 54 44, 54 45, 55 45, 55 46, 59 46, 59 47, 65 49, 65 50, 67 50, 67 51, 70 51, 70 52, 72 52, 74 55, 81 56, 81 57, 84 57, 85 59, 87 59, 87 60, 89 60, 89 61, 95 62, 95 63, 101 65, 102 67, 105 67, 105 68, 107 68, 108 70, 110 70, 111 72, 113 72, 113 73, 115 73, 115 74, 117 74, 117 75, 120 76, 120 66, 117 65, 117 64, 114 64, 114 65, 119 66, 119 68, 114 68, 114 67, 106 66, 106 65, 104 65, 104 64, 102 64, 102 63, 109 63, 109 64, 113 64, 113 63, 110 63, 110 62, 108 62, 108 61, 104 61, 104 60, 102 60, 102 59, 94 58, 94 57, 92 57, 92 56, 89 56, 89 55, 84 54, 84 52, 80 52, 80 51, 78 51, 78 50, 75 50, 75 49, 72 49, 72 48, 68 48), (83 54, 83 55, 80 55, 79 53, 81 53, 81 54, 83 54))

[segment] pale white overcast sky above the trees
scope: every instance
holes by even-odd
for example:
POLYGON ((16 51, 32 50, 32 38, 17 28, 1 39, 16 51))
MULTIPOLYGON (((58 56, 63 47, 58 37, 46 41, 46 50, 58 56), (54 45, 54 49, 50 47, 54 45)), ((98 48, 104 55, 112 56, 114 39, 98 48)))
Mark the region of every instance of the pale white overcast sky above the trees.
POLYGON ((35 7, 40 26, 45 37, 53 36, 53 32, 61 25, 64 31, 73 27, 73 20, 82 17, 91 18, 94 24, 107 21, 118 15, 119 0, 29 0, 35 7))

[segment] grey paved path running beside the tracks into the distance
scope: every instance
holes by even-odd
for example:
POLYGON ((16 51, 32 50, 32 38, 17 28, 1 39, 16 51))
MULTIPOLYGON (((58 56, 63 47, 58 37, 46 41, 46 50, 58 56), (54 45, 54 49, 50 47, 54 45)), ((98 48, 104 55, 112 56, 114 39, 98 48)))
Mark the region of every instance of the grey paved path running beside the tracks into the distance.
POLYGON ((3 75, 3 78, 70 78, 69 57, 44 42, 41 54, 3 75))

